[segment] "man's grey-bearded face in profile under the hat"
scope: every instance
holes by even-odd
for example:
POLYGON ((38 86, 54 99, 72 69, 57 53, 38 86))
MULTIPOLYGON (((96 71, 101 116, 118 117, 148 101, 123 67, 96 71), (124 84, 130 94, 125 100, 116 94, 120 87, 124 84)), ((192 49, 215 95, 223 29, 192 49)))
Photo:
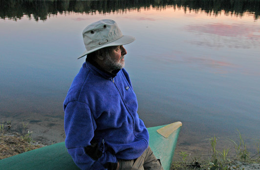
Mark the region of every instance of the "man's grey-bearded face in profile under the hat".
POLYGON ((111 69, 122 69, 125 66, 124 57, 127 54, 127 50, 123 45, 112 46, 105 58, 105 64, 111 69))

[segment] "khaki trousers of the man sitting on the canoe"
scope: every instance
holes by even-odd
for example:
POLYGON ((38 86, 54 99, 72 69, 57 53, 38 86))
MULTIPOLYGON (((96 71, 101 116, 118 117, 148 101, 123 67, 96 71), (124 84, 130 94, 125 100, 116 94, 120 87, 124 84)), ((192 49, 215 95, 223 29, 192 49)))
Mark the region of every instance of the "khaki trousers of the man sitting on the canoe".
POLYGON ((118 160, 119 170, 163 170, 160 160, 156 159, 152 149, 148 147, 144 153, 134 160, 118 160))

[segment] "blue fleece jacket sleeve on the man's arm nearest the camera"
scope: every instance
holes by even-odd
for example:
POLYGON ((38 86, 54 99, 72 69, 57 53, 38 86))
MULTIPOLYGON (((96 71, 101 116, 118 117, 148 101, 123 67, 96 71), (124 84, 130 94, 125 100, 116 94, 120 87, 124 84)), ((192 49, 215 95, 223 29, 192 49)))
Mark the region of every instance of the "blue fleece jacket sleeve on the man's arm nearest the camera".
POLYGON ((115 170, 117 159, 108 150, 90 141, 96 129, 95 120, 87 104, 69 102, 65 106, 65 145, 75 164, 81 170, 115 170))

